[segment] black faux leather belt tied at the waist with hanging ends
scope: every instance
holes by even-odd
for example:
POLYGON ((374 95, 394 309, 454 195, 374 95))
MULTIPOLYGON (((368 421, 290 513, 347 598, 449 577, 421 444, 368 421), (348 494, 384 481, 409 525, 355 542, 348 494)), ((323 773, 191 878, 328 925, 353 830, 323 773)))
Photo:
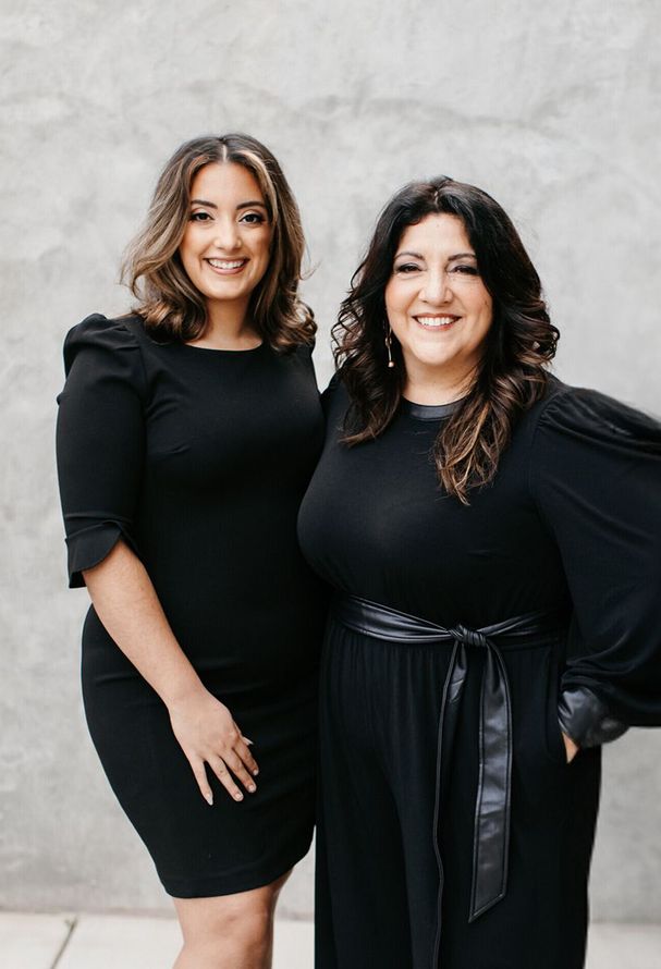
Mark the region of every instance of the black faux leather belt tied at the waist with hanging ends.
POLYGON ((531 612, 493 626, 451 629, 397 612, 356 596, 339 596, 332 614, 350 629, 402 643, 453 645, 443 686, 437 747, 434 808, 436 851, 441 868, 439 822, 443 763, 456 726, 460 700, 468 671, 469 650, 486 650, 479 720, 479 776, 473 843, 473 886, 469 921, 504 897, 507 886, 510 804, 512 794, 512 710, 510 684, 501 650, 543 646, 565 624, 560 614, 531 612), (498 645, 497 645, 498 643, 498 645), (445 755, 445 756, 444 756, 445 755))

